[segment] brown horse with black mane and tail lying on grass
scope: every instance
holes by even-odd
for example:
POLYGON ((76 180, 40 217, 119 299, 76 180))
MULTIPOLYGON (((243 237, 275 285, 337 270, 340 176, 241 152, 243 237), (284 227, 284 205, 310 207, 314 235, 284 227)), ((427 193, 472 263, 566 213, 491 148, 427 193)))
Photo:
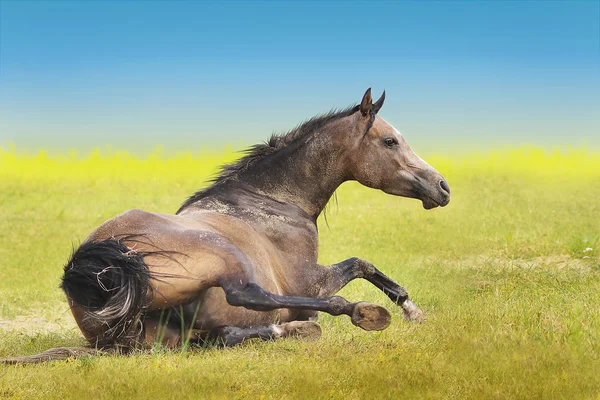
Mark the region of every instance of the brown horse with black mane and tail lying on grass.
POLYGON ((359 105, 308 120, 223 168, 175 215, 127 211, 98 227, 73 253, 61 287, 90 348, 53 349, 4 362, 79 356, 148 343, 175 347, 216 339, 318 337, 318 311, 385 329, 388 311, 334 296, 363 278, 401 306, 421 311, 373 264, 317 262, 317 217, 344 181, 445 206, 448 184, 377 115, 359 105))

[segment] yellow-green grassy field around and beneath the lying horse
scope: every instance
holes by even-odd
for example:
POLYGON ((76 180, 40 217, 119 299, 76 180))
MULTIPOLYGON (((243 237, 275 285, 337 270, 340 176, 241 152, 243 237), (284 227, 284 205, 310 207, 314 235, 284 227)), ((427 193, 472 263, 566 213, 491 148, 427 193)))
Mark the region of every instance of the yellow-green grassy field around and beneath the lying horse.
MULTIPOLYGON (((82 344, 57 288, 72 243, 130 208, 174 212, 233 157, 0 151, 0 357, 82 344)), ((426 159, 448 207, 348 183, 320 221, 323 263, 372 261, 426 323, 357 281, 342 295, 385 305, 387 330, 321 315, 313 343, 0 366, 0 398, 600 398, 600 154, 426 159)))

